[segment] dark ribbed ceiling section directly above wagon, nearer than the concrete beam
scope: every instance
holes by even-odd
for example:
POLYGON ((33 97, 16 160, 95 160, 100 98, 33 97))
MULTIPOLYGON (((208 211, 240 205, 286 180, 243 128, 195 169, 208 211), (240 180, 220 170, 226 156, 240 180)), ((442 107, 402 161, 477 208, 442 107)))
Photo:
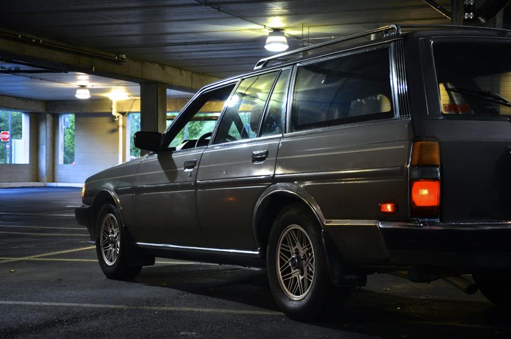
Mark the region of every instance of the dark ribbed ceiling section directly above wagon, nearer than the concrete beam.
POLYGON ((422 0, 18 0, 2 4, 0 25, 227 77, 271 55, 263 25, 285 29, 296 49, 388 23, 449 20, 422 0))

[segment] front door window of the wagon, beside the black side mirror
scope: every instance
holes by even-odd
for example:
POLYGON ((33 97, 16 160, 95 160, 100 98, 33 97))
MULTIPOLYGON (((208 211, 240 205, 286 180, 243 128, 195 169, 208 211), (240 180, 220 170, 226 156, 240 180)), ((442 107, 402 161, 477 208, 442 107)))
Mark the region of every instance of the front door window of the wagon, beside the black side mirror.
MULTIPOLYGON (((194 100, 185 114, 190 119, 172 139, 169 148, 176 151, 207 146, 225 101, 234 89, 234 84, 207 91, 194 100)), ((182 125, 182 124, 181 124, 182 125)), ((171 129, 174 126, 171 126, 171 129)))

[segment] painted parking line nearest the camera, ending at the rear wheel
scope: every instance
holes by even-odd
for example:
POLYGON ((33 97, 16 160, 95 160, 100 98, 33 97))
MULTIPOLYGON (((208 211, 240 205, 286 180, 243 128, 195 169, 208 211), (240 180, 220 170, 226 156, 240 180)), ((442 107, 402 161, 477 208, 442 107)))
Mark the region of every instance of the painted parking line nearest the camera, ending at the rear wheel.
POLYGON ((149 310, 149 311, 230 313, 230 314, 246 314, 246 315, 255 315, 255 316, 281 316, 281 317, 284 316, 284 313, 275 312, 275 311, 252 311, 252 310, 241 310, 241 309, 195 308, 195 307, 172 307, 172 306, 129 306, 129 305, 110 305, 110 304, 53 303, 53 302, 8 301, 8 300, 0 300, 0 305, 142 309, 142 310, 149 310))

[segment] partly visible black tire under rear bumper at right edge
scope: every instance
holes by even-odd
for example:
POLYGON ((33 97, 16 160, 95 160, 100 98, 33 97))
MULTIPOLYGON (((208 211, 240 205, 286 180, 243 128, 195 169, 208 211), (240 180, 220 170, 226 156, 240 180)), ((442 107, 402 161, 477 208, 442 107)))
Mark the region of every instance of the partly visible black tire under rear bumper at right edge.
POLYGON ((511 304, 511 273, 473 274, 474 282, 486 299, 497 306, 511 304))

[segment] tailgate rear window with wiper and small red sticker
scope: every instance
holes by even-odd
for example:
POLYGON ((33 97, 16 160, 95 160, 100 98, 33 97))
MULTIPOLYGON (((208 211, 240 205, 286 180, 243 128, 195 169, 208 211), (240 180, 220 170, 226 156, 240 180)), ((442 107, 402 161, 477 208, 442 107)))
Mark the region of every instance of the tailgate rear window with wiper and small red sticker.
POLYGON ((511 44, 435 42, 442 113, 511 115, 511 44))

